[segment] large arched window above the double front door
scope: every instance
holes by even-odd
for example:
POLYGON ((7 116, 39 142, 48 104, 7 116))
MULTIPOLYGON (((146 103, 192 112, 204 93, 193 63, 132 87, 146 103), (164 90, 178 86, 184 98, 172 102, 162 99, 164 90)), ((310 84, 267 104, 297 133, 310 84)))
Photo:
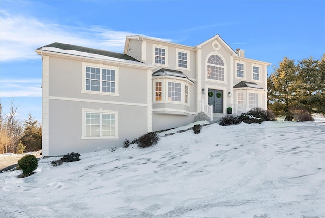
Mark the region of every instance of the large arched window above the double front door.
POLYGON ((211 55, 207 63, 208 79, 224 81, 224 62, 218 55, 211 55))

